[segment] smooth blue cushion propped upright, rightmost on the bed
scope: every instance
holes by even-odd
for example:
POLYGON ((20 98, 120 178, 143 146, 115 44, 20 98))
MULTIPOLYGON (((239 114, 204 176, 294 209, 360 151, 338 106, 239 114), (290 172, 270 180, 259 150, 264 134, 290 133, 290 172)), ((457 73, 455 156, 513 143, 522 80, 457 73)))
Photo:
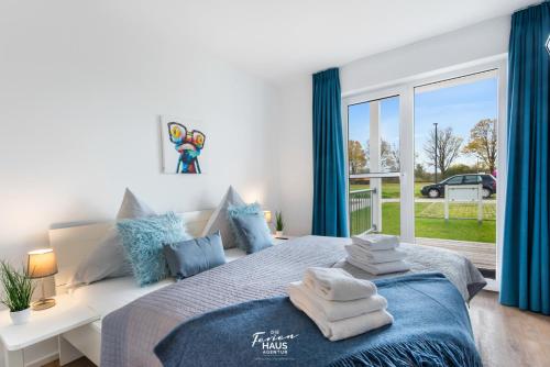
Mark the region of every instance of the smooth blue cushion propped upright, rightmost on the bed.
POLYGON ((230 205, 228 218, 238 246, 246 254, 257 253, 273 245, 270 229, 258 203, 230 205))

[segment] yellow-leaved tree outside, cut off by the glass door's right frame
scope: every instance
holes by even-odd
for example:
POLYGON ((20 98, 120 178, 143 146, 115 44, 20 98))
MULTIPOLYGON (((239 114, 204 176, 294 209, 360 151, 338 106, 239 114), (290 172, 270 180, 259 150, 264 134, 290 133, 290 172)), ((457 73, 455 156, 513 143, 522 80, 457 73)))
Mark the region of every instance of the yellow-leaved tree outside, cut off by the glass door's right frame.
POLYGON ((462 149, 473 154, 493 173, 496 168, 496 120, 485 119, 475 124, 470 131, 470 141, 462 149))

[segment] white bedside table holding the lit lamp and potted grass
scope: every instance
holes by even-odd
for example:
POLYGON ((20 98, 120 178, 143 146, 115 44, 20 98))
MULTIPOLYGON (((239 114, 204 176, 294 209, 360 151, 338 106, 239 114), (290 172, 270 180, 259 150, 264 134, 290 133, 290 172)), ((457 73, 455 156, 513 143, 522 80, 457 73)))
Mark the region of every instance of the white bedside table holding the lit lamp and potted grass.
POLYGON ((80 356, 79 352, 63 338, 63 333, 99 320, 99 315, 68 294, 55 297, 56 305, 42 311, 31 311, 26 324, 13 325, 9 311, 0 312, 0 341, 4 348, 6 367, 23 367, 23 348, 58 337, 59 363, 63 366, 80 356))

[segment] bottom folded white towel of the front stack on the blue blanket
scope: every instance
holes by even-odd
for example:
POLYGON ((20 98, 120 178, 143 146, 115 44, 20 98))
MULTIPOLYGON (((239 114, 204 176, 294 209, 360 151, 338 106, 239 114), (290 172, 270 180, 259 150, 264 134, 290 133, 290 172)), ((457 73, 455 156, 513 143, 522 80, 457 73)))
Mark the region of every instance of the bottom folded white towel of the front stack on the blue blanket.
POLYGON ((386 310, 363 313, 355 318, 342 319, 339 321, 328 321, 321 313, 317 312, 312 304, 304 297, 296 296, 300 292, 289 289, 290 301, 299 310, 304 311, 311 319, 324 337, 332 342, 352 337, 369 331, 382 327, 394 322, 394 318, 386 310))

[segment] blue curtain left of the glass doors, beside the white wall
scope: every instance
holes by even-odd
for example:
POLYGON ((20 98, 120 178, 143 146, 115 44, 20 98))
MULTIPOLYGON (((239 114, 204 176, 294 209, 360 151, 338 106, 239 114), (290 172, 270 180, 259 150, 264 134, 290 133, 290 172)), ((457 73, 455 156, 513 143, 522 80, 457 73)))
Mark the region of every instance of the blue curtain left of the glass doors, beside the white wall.
POLYGON ((312 233, 348 236, 345 162, 338 68, 314 75, 312 233))

